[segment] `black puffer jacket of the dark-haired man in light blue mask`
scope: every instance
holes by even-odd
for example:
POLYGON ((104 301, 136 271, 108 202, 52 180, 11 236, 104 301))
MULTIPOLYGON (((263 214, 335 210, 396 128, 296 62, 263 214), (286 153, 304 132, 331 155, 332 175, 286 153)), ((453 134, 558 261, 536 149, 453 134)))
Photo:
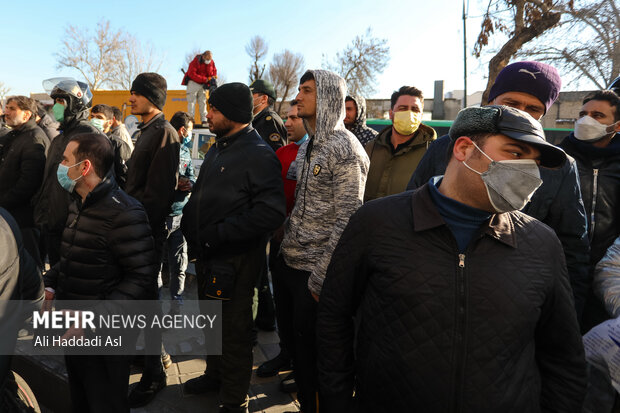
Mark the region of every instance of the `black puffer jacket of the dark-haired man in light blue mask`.
POLYGON ((44 277, 60 300, 147 299, 159 261, 144 207, 109 174, 71 204, 60 262, 44 277))

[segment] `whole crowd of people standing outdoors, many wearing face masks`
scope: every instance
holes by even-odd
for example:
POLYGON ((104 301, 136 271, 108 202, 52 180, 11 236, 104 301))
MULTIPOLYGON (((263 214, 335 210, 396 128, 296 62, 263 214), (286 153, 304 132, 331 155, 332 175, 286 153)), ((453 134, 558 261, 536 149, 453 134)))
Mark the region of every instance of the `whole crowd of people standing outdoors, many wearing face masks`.
MULTIPOLYGON (((306 413, 620 405, 582 343, 620 313, 620 82, 586 96, 555 146, 540 120, 561 78, 541 62, 506 66, 439 138, 413 86, 377 133, 330 71, 303 74, 286 122, 269 81, 216 78, 211 52, 196 56, 189 113, 166 120, 166 80, 138 75, 131 137, 77 80, 43 82, 51 112, 6 100, 0 298, 157 301, 165 260, 180 314, 194 261, 201 305, 222 303, 222 354, 184 390, 217 393, 220 412, 248 409, 256 328, 280 337, 256 374, 292 369, 281 388, 306 413), (196 101, 216 136, 197 175, 196 101)), ((131 389, 130 357, 65 356, 73 410, 156 403, 172 358, 161 331, 145 341, 161 352, 131 389)))

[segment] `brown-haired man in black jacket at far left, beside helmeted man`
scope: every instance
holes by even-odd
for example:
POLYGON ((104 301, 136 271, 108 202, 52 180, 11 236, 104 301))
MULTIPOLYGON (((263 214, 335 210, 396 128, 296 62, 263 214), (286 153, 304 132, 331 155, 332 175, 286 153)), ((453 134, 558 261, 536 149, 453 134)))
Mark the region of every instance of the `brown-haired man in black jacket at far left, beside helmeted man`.
POLYGON ((26 96, 6 101, 4 119, 11 131, 0 137, 0 207, 15 218, 24 247, 43 268, 31 201, 43 182, 48 140, 36 124, 36 111, 34 100, 26 96))

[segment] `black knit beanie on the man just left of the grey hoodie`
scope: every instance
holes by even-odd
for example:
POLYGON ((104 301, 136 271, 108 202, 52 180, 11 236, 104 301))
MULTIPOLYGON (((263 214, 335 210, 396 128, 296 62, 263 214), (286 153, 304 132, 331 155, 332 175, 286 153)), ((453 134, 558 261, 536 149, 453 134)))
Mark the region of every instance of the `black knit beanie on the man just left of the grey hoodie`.
POLYGON ((239 123, 252 122, 252 92, 243 83, 226 83, 211 93, 209 105, 215 106, 226 119, 239 123))

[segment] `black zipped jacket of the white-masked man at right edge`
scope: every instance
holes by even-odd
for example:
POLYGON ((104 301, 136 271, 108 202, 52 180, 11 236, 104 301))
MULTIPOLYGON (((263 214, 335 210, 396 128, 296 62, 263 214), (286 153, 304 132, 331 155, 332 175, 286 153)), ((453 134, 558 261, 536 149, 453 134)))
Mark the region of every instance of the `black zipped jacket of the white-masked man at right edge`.
MULTIPOLYGON (((620 235, 620 135, 606 148, 584 143, 571 133, 560 147, 577 161, 581 197, 587 211, 590 270, 620 235)), ((583 314, 582 332, 611 318, 590 289, 583 314)))

